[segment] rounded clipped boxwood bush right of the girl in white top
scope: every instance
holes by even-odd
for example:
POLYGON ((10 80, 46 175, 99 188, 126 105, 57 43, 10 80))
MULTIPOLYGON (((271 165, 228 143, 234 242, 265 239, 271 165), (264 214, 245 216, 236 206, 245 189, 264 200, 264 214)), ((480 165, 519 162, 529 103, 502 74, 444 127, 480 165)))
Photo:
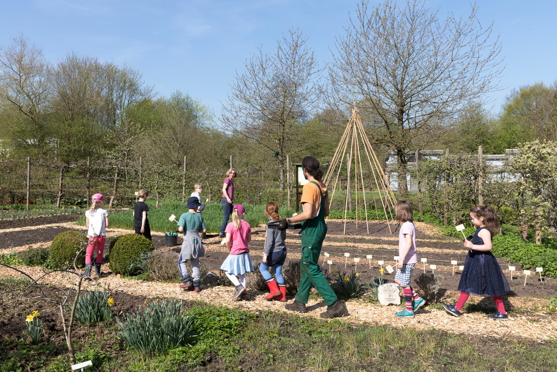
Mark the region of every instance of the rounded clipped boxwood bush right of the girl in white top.
POLYGON ((153 243, 139 234, 118 236, 110 243, 110 270, 115 274, 137 275, 141 268, 136 264, 142 254, 153 252, 153 243))

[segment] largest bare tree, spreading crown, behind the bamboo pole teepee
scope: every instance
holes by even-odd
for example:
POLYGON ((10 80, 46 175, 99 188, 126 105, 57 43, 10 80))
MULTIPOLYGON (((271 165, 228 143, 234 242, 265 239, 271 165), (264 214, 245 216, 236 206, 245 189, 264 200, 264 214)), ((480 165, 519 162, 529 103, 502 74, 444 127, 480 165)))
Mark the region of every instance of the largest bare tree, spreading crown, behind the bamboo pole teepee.
POLYGON ((425 0, 404 7, 385 0, 372 9, 364 0, 337 40, 330 69, 335 103, 356 102, 363 118, 368 111, 373 141, 397 153, 401 194, 407 192, 407 151, 425 146, 468 102, 497 89, 499 39, 476 12, 474 5, 469 16, 441 20, 425 0))

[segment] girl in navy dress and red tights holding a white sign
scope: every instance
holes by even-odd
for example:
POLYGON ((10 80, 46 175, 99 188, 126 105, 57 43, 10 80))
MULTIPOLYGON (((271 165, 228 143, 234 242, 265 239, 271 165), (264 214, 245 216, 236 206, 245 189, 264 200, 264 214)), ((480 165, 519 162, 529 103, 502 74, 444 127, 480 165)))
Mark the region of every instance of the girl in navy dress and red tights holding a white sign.
POLYGON ((487 295, 493 297, 496 307, 495 313, 487 317, 507 320, 509 316, 505 311, 502 296, 510 291, 509 282, 490 252, 491 237, 501 232, 499 221, 494 210, 488 205, 472 207, 470 218, 477 229, 472 239, 468 238, 464 241, 464 246, 469 250, 458 283, 460 297, 456 305, 443 303, 443 307, 449 314, 458 317, 470 293, 487 295))

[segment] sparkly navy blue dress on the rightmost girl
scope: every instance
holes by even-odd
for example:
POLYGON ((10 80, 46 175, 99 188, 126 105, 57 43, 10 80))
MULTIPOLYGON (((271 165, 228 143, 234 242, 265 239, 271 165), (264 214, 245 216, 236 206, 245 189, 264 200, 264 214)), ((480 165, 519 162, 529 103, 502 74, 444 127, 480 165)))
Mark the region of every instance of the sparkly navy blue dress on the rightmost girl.
MULTIPOLYGON (((476 229, 472 236, 472 244, 483 244, 482 238, 478 236, 482 229, 487 228, 484 226, 476 229)), ((482 252, 470 249, 466 255, 464 269, 462 270, 460 283, 458 283, 458 290, 497 297, 510 292, 510 287, 499 263, 497 263, 497 260, 490 251, 482 252)))

